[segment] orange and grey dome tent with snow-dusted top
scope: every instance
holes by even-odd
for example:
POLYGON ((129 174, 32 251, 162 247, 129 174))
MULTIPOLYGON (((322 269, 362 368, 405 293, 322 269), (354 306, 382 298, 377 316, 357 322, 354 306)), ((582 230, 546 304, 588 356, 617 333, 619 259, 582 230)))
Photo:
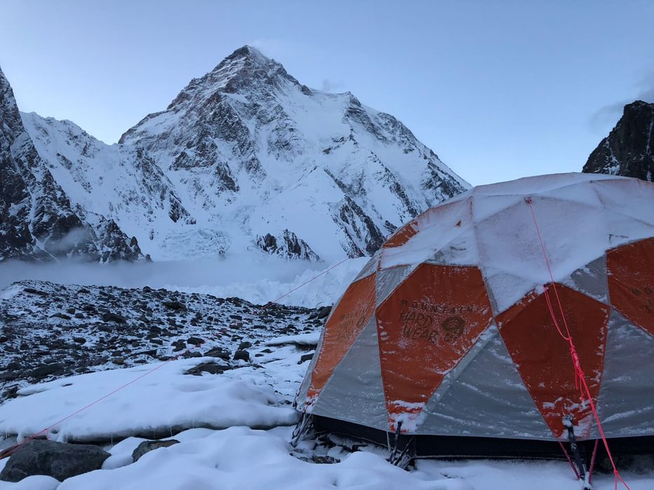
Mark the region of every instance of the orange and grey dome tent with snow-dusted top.
POLYGON ((428 209, 334 305, 297 408, 354 435, 557 441, 567 417, 597 439, 563 325, 606 437, 654 435, 653 184, 554 174, 428 209))

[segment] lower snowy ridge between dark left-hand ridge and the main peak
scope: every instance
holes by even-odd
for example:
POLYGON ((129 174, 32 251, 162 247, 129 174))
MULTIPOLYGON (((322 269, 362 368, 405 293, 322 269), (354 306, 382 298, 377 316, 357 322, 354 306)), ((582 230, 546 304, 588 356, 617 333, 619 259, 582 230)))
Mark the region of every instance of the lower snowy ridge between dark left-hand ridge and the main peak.
POLYGON ((75 207, 114 219, 146 251, 151 241, 163 241, 160 238, 171 229, 184 230, 194 223, 172 183, 142 148, 109 146, 68 120, 36 113, 22 113, 21 118, 75 207))

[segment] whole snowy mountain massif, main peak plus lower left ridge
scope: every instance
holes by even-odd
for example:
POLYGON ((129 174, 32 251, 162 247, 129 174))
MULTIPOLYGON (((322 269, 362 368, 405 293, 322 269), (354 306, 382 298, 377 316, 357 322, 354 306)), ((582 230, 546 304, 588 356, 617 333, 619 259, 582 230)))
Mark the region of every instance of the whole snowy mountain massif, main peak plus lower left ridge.
POLYGON ((311 90, 248 46, 119 144, 69 121, 21 116, 80 219, 113 220, 155 260, 247 249, 369 255, 404 221, 469 187, 393 116, 349 92, 311 90))

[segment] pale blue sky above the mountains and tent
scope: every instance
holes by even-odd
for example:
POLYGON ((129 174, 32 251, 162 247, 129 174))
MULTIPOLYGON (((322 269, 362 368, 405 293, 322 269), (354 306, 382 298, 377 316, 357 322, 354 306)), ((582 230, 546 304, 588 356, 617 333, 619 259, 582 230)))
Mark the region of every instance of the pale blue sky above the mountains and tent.
POLYGON ((397 116, 472 184, 579 171, 654 102, 654 1, 3 0, 22 111, 113 143, 250 44, 397 116))

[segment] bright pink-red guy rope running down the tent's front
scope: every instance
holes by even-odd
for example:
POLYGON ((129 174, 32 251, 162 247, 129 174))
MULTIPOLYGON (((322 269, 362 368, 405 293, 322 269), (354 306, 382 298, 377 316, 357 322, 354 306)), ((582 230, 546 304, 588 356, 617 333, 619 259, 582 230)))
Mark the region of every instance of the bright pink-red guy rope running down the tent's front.
MULTIPOLYGON (((594 419, 597 422, 597 429, 599 430, 599 434, 601 435, 602 442, 604 442, 604 448, 606 449, 606 454, 608 454, 608 460, 611 461, 611 466, 613 467, 613 475, 615 477, 615 490, 618 489, 618 481, 622 483, 627 490, 630 490, 629 485, 627 485, 627 482, 625 482, 625 480, 622 479, 622 477, 620 476, 620 472, 618 471, 618 468, 615 467, 615 461, 613 461, 613 456, 611 455, 611 449, 608 449, 608 441, 606 440, 606 435, 604 435, 604 428, 602 428, 599 415, 597 414, 597 408, 595 407, 592 394, 590 393, 590 389, 588 388, 588 384, 586 382, 586 375, 581 367, 581 361, 579 359, 579 354, 577 353, 577 348, 575 347, 575 343, 570 333, 570 329, 568 328, 568 322, 566 321, 566 315, 564 314, 563 311, 563 305, 561 304, 561 299, 559 298, 559 293, 557 292, 557 284, 554 282, 554 274, 552 274, 550 259, 547 258, 547 250, 545 249, 545 244, 543 243, 543 235, 541 235, 540 233, 540 228, 538 227, 538 220, 536 219, 536 213, 533 211, 533 202, 531 201, 531 197, 527 197, 525 199, 525 202, 529 206, 529 210, 531 211, 531 218, 533 218, 533 224, 536 227, 536 233, 538 234, 538 241, 540 242, 540 249, 543 252, 543 258, 545 259, 547 272, 549 272, 550 274, 550 284, 552 286, 552 290, 554 290, 554 297, 557 301, 557 306, 559 307, 561 318, 563 318, 565 333, 561 329, 561 326, 557 321, 557 317, 554 315, 554 307, 552 306, 552 300, 550 298, 549 290, 547 287, 545 287, 545 293, 544 293, 545 300, 547 301, 547 307, 550 310, 550 316, 552 316, 552 322, 554 323, 554 326, 557 328, 557 331, 559 332, 559 335, 561 335, 561 338, 563 338, 564 340, 566 340, 566 342, 568 342, 570 348, 570 358, 572 360, 573 368, 575 370, 575 386, 580 391, 582 400, 588 400, 594 419)), ((575 473, 577 473, 578 478, 581 477, 579 472, 577 472, 576 470, 575 473)), ((589 483, 590 483, 590 478, 589 478, 589 483)))

